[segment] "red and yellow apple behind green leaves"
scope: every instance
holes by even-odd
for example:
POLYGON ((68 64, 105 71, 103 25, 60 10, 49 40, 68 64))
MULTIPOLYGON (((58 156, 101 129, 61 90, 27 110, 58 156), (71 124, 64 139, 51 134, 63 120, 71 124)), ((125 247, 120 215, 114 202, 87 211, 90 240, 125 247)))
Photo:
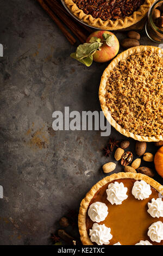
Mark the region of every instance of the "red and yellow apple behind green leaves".
POLYGON ((92 34, 90 34, 90 36, 86 39, 86 42, 89 42, 90 39, 94 36, 100 38, 101 41, 103 41, 103 33, 107 33, 114 36, 114 46, 108 46, 106 45, 106 42, 103 42, 103 45, 101 46, 101 51, 96 51, 93 54, 93 60, 95 60, 95 62, 108 62, 110 59, 113 59, 117 55, 120 48, 118 39, 110 31, 95 31, 92 34))

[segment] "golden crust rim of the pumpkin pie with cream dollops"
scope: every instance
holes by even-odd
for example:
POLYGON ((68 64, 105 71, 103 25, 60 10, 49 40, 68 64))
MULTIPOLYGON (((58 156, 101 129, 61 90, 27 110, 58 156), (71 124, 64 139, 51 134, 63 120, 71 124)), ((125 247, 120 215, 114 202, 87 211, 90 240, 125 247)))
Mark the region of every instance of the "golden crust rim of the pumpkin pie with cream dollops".
POLYGON ((155 181, 152 178, 149 178, 147 175, 141 173, 114 173, 110 176, 106 176, 104 179, 100 180, 95 184, 91 190, 86 194, 85 198, 82 200, 79 209, 79 216, 78 216, 78 226, 79 226, 79 233, 80 233, 80 240, 82 241, 83 245, 93 245, 90 240, 89 234, 86 230, 86 212, 87 208, 90 204, 91 199, 95 196, 95 193, 105 184, 108 182, 117 180, 117 179, 135 179, 135 180, 144 180, 147 184, 151 185, 155 188, 156 191, 160 192, 163 195, 163 186, 159 184, 159 182, 155 181))

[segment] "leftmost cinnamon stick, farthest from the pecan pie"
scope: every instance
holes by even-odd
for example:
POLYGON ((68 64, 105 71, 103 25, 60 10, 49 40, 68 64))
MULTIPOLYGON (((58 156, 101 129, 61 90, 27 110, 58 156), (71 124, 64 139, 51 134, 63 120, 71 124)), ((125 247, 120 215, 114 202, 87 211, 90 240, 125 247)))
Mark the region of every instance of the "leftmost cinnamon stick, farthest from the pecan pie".
POLYGON ((52 18, 52 20, 56 23, 56 25, 60 28, 62 33, 66 36, 67 40, 74 45, 76 43, 76 39, 67 31, 65 26, 60 22, 57 16, 53 13, 53 11, 48 7, 48 5, 43 0, 37 0, 40 3, 41 7, 48 13, 48 15, 52 18))

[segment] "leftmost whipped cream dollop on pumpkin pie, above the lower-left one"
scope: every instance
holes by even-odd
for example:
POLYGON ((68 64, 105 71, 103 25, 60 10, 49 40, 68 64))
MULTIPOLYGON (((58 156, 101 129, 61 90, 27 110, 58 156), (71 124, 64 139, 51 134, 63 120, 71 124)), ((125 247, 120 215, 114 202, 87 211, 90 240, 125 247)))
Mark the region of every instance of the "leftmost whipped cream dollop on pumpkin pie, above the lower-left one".
POLYGON ((96 202, 90 205, 87 214, 92 221, 101 222, 108 215, 108 207, 104 203, 96 202))

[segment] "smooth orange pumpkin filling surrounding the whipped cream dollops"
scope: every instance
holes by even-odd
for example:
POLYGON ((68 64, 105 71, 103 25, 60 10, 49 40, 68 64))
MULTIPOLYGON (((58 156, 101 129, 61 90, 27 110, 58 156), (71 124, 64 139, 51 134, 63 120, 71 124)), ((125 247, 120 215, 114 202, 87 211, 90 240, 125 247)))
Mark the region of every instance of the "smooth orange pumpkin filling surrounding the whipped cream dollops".
MULTIPOLYGON (((163 222, 163 217, 153 218, 148 214, 148 202, 151 202, 152 198, 159 198, 159 192, 151 187, 152 194, 147 199, 138 200, 135 199, 131 193, 135 179, 117 179, 117 182, 123 182, 124 187, 128 188, 128 198, 122 202, 121 205, 112 205, 106 199, 106 189, 110 183, 102 186, 93 196, 89 206, 95 202, 102 202, 108 206, 108 216, 105 220, 98 224, 105 224, 106 227, 111 229, 112 239, 109 245, 114 245, 120 242, 121 245, 135 245, 140 240, 148 240, 153 245, 163 245, 163 240, 160 243, 151 241, 148 233, 149 226, 157 221, 163 222)), ((88 207, 89 209, 89 207, 88 207)), ((89 230, 92 228, 93 221, 86 214, 86 230, 89 234, 89 230)))

